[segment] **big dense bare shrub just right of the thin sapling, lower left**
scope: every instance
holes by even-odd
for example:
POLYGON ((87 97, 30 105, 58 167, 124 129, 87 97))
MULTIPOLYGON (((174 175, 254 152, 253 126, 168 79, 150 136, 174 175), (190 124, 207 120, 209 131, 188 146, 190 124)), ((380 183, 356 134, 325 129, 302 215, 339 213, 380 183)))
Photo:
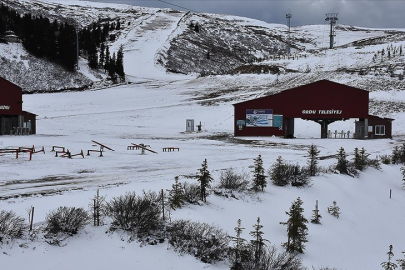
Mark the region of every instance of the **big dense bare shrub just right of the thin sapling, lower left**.
POLYGON ((107 215, 112 218, 110 229, 130 231, 138 236, 161 227, 160 213, 160 197, 155 192, 146 192, 144 196, 128 192, 107 203, 107 215))

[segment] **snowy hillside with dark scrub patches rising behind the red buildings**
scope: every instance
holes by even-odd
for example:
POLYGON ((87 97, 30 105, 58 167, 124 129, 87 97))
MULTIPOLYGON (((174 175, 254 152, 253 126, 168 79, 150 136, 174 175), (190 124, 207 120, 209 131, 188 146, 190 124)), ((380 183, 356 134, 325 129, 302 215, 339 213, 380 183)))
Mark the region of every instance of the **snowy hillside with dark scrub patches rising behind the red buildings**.
MULTIPOLYGON (((405 89, 405 52, 400 54, 400 47, 405 45, 405 29, 337 25, 335 48, 330 50, 326 24, 293 27, 289 35, 285 25, 171 9, 58 0, 18 0, 10 5, 21 13, 68 21, 78 28, 119 20, 122 27, 114 33, 116 40, 108 45, 111 51, 123 45, 129 81, 163 75, 176 78, 174 73, 261 73, 271 75, 268 84, 253 82, 251 87, 275 91, 327 78, 370 91, 405 89), (385 55, 381 54, 383 49, 385 55)), ((21 58, 26 53, 15 46, 0 44, 0 76, 21 85, 25 91, 84 88, 91 85, 89 79, 98 82, 93 87, 99 87, 106 77, 102 72, 94 76, 84 71, 65 75, 41 59, 21 58), (9 57, 10 51, 13 57, 9 57), (68 79, 61 81, 60 77, 68 79)), ((82 62, 85 65, 85 60, 82 62)))

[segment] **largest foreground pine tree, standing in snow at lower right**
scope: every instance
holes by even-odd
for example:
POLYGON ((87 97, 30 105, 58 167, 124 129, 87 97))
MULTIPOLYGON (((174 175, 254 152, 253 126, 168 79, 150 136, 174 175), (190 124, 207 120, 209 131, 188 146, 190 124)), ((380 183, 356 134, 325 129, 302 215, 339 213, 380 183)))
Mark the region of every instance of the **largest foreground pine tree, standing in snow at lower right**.
POLYGON ((303 216, 304 209, 302 208, 302 200, 298 197, 291 205, 290 211, 285 212, 288 215, 288 220, 282 222, 287 226, 287 242, 283 243, 287 252, 290 253, 304 253, 305 245, 308 242, 306 236, 308 235, 308 228, 306 223, 308 220, 303 216))

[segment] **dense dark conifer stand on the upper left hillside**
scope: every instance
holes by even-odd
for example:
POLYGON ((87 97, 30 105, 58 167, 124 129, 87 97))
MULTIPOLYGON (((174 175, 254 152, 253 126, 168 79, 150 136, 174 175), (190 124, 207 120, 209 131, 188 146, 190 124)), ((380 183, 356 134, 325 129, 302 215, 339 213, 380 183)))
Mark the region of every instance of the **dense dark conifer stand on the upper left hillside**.
MULTIPOLYGON (((79 31, 79 54, 87 58, 91 68, 104 68, 112 79, 123 79, 123 50, 110 53, 107 40, 114 40, 111 30, 120 28, 119 22, 94 23, 79 31)), ((77 59, 76 28, 68 22, 51 22, 43 16, 31 13, 18 14, 14 9, 0 6, 0 37, 16 35, 24 48, 32 55, 46 58, 73 71, 77 59)), ((4 41, 4 39, 2 39, 4 41)))

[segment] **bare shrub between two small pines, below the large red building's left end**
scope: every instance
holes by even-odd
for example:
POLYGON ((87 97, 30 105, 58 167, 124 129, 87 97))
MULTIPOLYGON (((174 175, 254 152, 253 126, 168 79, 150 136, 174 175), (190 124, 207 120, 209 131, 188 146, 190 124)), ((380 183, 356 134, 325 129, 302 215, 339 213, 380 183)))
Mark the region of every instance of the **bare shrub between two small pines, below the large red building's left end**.
POLYGON ((221 171, 219 176, 219 188, 244 191, 248 189, 248 186, 249 173, 244 171, 238 172, 232 167, 221 171))

